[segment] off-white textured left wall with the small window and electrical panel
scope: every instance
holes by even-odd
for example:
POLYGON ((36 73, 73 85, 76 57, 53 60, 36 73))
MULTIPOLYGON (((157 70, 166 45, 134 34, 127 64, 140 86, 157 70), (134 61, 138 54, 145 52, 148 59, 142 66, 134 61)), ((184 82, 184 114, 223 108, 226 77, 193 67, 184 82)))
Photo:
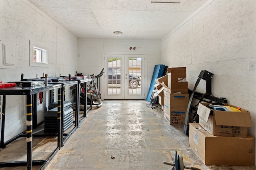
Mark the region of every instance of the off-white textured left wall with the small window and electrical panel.
MULTIPOLYGON (((17 69, 0 69, 0 81, 19 81, 24 78, 48 76, 74 76, 77 66, 77 38, 46 16, 27 0, 0 1, 0 42, 16 46, 17 69), (48 67, 30 66, 29 41, 48 50, 48 67)), ((2 59, 2 54, 0 55, 2 59)), ((66 90, 68 91, 68 90, 66 90)), ((2 96, 1 96, 2 97, 2 96)), ((45 109, 47 101, 38 105, 45 109)), ((71 99, 66 92, 66 99, 71 99)), ((26 98, 7 96, 5 141, 26 129, 26 98)), ((43 115, 38 115, 42 121, 43 115)))

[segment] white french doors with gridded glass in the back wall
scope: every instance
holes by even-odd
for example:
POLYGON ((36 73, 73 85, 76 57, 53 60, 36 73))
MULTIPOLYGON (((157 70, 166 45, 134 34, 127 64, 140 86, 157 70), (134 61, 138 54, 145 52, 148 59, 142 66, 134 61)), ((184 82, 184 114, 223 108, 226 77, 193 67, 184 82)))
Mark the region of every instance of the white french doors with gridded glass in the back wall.
POLYGON ((144 99, 145 55, 104 54, 104 98, 144 99))

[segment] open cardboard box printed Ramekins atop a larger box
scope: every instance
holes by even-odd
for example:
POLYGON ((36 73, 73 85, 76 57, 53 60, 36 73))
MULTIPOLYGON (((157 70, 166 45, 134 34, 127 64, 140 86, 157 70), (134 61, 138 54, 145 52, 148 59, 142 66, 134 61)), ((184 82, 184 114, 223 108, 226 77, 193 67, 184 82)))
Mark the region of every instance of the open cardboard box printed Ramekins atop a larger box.
MULTIPOLYGON (((248 127, 252 127, 250 113, 245 109, 238 111, 213 111, 207 107, 209 103, 200 103, 197 114, 199 124, 215 136, 246 137, 248 127)), ((226 106, 235 107, 230 104, 226 106)))

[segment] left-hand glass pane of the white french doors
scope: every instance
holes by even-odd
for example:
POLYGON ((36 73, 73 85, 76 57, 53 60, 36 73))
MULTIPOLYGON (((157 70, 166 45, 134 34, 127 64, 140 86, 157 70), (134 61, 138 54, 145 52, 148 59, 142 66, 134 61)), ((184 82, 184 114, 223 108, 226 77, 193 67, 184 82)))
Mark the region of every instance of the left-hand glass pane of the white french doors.
POLYGON ((108 57, 108 95, 121 94, 121 58, 108 57))

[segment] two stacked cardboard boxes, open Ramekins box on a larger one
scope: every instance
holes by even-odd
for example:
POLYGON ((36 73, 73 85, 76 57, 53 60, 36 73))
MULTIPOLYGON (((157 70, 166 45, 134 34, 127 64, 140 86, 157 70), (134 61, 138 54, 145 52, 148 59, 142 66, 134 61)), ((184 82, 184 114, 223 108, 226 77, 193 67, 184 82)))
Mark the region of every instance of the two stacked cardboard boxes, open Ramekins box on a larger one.
MULTIPOLYGON (((189 124, 189 145, 206 165, 254 165, 254 137, 248 135, 252 126, 250 113, 216 111, 200 103, 199 123, 189 124)), ((225 104, 226 106, 232 106, 225 104)))

